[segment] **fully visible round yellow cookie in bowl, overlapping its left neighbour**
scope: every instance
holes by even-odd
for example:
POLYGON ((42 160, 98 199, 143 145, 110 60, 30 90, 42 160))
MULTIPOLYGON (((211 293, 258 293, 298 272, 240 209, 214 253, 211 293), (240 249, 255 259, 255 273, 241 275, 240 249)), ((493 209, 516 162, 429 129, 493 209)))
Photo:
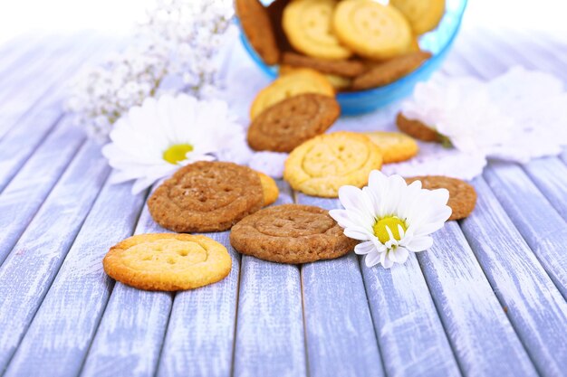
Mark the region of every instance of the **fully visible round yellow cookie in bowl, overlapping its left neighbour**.
POLYGON ((391 5, 373 0, 343 0, 336 6, 332 27, 345 46, 374 60, 407 52, 412 34, 408 20, 391 5))

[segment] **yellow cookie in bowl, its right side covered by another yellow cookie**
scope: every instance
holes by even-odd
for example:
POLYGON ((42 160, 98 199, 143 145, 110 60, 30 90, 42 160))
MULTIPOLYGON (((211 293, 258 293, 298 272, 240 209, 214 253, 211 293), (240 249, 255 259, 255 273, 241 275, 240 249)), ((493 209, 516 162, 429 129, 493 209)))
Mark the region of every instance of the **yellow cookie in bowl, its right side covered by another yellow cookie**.
POLYGON ((322 59, 347 59, 351 50, 332 32, 335 0, 294 0, 283 10, 282 27, 293 48, 322 59))

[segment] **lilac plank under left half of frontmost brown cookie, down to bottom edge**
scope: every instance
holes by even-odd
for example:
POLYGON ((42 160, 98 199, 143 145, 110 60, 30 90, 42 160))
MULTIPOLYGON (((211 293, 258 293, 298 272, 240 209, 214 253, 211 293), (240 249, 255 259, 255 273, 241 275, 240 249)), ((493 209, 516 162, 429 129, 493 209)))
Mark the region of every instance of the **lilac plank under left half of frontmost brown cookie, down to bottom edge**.
MULTIPOLYGON (((278 185, 275 204, 293 203, 289 185, 278 185)), ((299 267, 242 256, 240 274, 234 375, 306 375, 299 267)))

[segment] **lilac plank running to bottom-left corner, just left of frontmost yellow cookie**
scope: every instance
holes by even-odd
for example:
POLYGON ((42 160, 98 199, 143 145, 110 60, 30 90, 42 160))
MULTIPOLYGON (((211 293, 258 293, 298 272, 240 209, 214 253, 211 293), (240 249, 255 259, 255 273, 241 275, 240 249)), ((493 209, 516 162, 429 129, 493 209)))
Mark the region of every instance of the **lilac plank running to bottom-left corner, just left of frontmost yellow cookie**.
POLYGON ((145 194, 130 188, 108 182, 102 188, 5 377, 79 373, 114 285, 101 260, 134 231, 144 203, 145 194))

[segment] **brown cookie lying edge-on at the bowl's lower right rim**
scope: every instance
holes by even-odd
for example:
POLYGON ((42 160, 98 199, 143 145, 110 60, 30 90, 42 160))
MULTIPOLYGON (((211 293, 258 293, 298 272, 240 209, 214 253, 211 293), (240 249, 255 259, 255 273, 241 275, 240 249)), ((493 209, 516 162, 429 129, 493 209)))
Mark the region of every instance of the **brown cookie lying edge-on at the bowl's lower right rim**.
POLYGON ((431 57, 430 52, 408 52, 388 61, 380 62, 352 81, 353 90, 367 90, 388 85, 415 71, 421 63, 431 57))

